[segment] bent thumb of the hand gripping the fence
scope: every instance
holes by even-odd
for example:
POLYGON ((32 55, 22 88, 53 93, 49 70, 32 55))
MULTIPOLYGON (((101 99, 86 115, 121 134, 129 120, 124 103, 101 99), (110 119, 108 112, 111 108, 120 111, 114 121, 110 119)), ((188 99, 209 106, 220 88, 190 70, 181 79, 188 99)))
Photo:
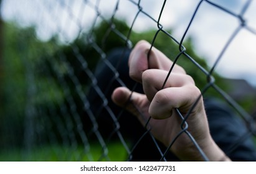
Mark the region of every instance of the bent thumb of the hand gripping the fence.
POLYGON ((131 92, 126 87, 119 87, 113 91, 111 98, 115 104, 125 108, 140 120, 142 116, 143 122, 149 117, 148 108, 150 103, 145 94, 131 92))

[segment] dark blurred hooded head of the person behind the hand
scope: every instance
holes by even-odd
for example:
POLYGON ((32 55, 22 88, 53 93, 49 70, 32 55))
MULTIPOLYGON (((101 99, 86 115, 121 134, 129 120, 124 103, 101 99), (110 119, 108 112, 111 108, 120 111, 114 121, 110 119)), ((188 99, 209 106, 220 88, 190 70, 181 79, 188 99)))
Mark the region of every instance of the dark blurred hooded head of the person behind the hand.
POLYGON ((131 125, 141 126, 136 117, 116 106, 111 100, 111 94, 118 86, 125 85, 132 89, 135 85, 129 77, 129 55, 130 50, 115 48, 107 54, 105 60, 98 62, 93 73, 95 85, 90 87, 87 97, 93 116, 97 120, 98 130, 104 139, 119 139, 117 134, 120 132, 125 139, 131 139, 137 135, 136 130, 131 129, 131 125))

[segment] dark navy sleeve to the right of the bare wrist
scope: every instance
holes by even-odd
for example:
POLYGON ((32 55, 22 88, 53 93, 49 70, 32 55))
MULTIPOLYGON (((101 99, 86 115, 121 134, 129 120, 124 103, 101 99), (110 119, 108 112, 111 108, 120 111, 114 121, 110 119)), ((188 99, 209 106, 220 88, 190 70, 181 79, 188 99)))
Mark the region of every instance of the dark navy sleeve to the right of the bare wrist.
POLYGON ((205 100, 212 138, 233 161, 256 161, 256 144, 242 119, 225 103, 205 100))

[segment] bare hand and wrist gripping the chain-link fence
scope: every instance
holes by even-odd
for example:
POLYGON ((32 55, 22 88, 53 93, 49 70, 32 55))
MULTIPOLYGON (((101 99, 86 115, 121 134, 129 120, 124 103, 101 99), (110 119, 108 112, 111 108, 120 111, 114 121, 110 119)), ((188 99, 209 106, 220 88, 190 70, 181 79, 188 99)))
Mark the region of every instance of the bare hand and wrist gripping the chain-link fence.
MULTIPOLYGON (((176 109, 178 108, 183 116, 189 113, 186 119, 187 131, 194 137, 206 157, 210 161, 229 161, 211 137, 201 91, 196 87, 194 80, 186 75, 181 66, 174 65, 163 86, 173 62, 156 48, 153 47, 150 52, 149 48, 150 44, 141 40, 131 51, 128 61, 130 77, 143 85, 145 94, 119 87, 112 93, 113 102, 125 107, 143 125, 151 117, 148 127, 154 137, 166 147, 181 131, 182 119, 176 109), (192 111, 189 111, 191 108, 192 111)), ((191 139, 184 133, 176 139, 170 150, 180 160, 204 160, 191 139)))

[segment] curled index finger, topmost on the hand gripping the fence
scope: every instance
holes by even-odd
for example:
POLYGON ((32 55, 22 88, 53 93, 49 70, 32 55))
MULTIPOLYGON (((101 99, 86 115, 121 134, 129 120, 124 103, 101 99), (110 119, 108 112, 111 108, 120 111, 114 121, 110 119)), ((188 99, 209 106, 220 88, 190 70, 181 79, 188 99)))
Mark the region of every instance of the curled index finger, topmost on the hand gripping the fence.
MULTIPOLYGON (((169 71, 173 65, 173 62, 158 49, 152 47, 149 52, 150 47, 150 43, 141 40, 130 53, 128 61, 130 77, 140 83, 142 73, 145 70, 159 69, 169 71)), ((173 72, 186 74, 186 71, 179 65, 174 65, 173 72)))

